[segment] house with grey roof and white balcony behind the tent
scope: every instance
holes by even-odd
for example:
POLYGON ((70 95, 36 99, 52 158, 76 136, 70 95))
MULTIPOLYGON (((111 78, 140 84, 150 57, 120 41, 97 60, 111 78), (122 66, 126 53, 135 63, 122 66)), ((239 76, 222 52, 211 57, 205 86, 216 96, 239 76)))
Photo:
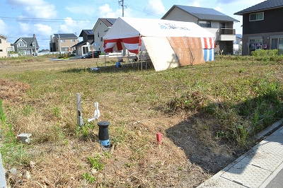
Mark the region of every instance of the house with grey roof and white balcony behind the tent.
POLYGON ((161 19, 196 23, 214 34, 214 52, 223 50, 224 54, 233 54, 233 41, 236 40, 233 23, 239 21, 224 13, 213 8, 173 5, 161 19))

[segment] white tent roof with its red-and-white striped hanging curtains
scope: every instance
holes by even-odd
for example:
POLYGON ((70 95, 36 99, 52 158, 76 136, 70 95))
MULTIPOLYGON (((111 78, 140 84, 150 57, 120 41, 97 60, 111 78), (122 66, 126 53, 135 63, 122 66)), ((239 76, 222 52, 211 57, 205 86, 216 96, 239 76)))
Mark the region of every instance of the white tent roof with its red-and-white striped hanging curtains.
POLYGON ((104 52, 128 49, 138 54, 144 49, 142 37, 200 37, 203 49, 214 48, 214 35, 195 23, 120 17, 103 37, 104 52))

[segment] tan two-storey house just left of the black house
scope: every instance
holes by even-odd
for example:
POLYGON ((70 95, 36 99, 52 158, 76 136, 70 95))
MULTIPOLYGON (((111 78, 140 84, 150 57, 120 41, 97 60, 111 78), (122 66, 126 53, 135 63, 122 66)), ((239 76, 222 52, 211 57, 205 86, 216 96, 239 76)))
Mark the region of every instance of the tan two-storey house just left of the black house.
POLYGON ((78 43, 78 37, 74 33, 57 33, 50 35, 50 52, 70 52, 72 46, 78 43))

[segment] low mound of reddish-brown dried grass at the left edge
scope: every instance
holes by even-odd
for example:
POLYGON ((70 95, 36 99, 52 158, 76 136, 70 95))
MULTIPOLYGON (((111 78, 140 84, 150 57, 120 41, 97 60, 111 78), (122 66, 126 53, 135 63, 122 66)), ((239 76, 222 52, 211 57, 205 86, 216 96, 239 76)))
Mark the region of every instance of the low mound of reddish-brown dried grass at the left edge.
POLYGON ((21 94, 30 86, 26 83, 0 79, 0 98, 3 100, 21 100, 21 94))

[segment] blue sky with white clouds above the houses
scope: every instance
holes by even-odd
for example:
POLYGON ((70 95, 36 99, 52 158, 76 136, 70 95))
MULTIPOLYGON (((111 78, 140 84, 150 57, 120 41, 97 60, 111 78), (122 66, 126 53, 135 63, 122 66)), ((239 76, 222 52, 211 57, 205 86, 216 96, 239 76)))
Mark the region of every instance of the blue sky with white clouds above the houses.
MULTIPOLYGON (((19 37, 36 35, 40 49, 49 49, 50 35, 93 29, 98 18, 122 17, 121 0, 1 0, 0 34, 15 42, 19 37)), ((241 34, 242 16, 233 13, 263 0, 124 0, 125 17, 160 19, 174 4, 214 8, 236 18, 236 33, 241 34)))

